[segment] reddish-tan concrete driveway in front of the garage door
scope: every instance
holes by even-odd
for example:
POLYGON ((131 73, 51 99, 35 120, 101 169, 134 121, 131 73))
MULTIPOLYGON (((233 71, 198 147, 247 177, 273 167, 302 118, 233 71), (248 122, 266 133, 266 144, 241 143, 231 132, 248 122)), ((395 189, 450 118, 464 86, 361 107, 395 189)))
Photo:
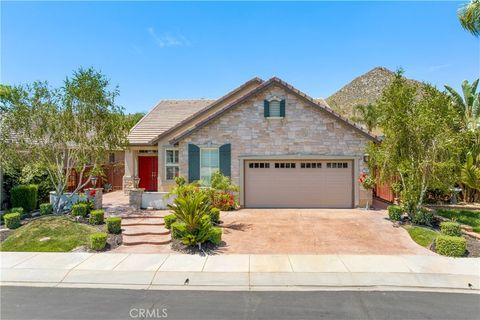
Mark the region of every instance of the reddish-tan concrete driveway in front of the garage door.
POLYGON ((434 255, 384 210, 242 209, 221 220, 223 253, 434 255))

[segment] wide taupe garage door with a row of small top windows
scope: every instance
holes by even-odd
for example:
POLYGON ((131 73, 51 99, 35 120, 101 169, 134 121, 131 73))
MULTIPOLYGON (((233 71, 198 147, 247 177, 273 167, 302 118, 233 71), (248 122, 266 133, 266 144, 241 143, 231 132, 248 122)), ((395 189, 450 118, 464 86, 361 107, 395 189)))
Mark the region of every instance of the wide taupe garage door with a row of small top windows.
POLYGON ((250 208, 352 208, 353 163, 245 161, 244 195, 250 208))

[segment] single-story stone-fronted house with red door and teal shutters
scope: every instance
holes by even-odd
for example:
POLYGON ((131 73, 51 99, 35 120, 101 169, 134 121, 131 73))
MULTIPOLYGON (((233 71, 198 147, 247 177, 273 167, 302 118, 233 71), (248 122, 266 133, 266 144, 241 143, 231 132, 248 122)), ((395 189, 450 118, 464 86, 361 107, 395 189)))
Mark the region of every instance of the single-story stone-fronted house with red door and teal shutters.
POLYGON ((163 100, 131 130, 123 187, 166 192, 220 170, 243 207, 353 208, 375 136, 285 81, 254 78, 217 100, 163 100))

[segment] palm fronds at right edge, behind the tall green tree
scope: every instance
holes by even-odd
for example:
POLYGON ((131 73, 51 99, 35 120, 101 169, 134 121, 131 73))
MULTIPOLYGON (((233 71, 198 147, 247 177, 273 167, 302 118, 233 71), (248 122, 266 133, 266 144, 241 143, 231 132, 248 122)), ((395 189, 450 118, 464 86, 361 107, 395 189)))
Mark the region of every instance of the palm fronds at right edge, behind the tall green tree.
POLYGON ((479 79, 469 84, 467 80, 462 82, 463 97, 452 87, 445 85, 455 108, 464 119, 466 128, 475 131, 480 128, 480 93, 477 92, 479 79))

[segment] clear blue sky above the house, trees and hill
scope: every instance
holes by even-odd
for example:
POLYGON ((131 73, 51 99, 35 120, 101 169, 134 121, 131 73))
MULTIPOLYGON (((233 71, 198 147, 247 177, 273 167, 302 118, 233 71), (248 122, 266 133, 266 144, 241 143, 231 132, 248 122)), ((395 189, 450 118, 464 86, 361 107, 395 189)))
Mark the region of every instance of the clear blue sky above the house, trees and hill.
POLYGON ((127 112, 215 98, 276 75, 328 97, 376 66, 459 88, 480 74, 462 2, 4 2, 1 82, 61 85, 80 66, 120 87, 127 112))

